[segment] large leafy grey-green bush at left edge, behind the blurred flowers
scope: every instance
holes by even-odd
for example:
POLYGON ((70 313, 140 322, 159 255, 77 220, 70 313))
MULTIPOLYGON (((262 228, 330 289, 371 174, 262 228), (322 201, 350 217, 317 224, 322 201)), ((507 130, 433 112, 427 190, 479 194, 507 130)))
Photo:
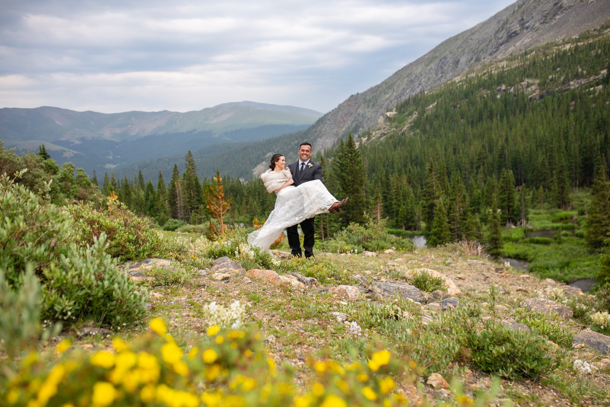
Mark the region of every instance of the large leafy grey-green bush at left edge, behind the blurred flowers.
POLYGON ((9 287, 19 290, 26 268, 41 282, 41 317, 131 325, 145 313, 145 297, 106 250, 106 234, 84 248, 72 241, 70 214, 41 206, 23 185, 0 178, 0 264, 9 287))

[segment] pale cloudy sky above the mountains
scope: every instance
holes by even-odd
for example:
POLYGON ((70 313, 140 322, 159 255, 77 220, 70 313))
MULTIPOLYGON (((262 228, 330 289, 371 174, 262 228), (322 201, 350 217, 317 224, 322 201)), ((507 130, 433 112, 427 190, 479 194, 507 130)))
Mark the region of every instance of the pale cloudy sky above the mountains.
POLYGON ((328 112, 513 0, 0 0, 0 107, 328 112))

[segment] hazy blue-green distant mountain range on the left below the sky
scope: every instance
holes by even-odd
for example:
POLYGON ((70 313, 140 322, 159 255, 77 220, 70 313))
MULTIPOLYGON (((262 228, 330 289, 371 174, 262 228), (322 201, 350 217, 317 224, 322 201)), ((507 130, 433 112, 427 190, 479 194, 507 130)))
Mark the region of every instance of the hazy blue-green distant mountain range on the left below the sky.
POLYGON ((132 173, 138 161, 300 131, 321 115, 301 107, 249 101, 185 113, 4 108, 0 109, 0 140, 5 148, 18 151, 37 151, 44 143, 59 164, 69 161, 89 174, 96 170, 103 175, 117 167, 132 173))

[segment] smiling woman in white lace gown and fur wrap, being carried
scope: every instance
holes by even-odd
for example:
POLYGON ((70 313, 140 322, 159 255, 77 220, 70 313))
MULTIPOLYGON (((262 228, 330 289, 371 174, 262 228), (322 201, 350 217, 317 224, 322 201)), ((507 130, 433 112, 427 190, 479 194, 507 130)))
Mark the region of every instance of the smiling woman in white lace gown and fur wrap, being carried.
POLYGON ((317 214, 336 214, 348 198, 337 201, 319 179, 293 186, 294 180, 282 154, 273 154, 269 170, 260 175, 269 193, 278 198, 265 224, 248 235, 248 243, 269 251, 269 247, 285 228, 301 223, 317 214))

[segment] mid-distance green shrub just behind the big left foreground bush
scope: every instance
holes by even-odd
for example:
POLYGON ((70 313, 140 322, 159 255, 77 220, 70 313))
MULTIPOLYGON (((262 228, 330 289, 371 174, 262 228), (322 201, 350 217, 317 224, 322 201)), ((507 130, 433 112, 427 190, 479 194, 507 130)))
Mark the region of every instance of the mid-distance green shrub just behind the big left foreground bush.
POLYGON ((149 228, 145 219, 134 215, 123 203, 110 201, 108 210, 93 203, 66 207, 74 218, 73 240, 81 247, 93 244, 101 232, 106 233, 107 253, 121 261, 149 257, 176 258, 175 248, 159 232, 149 228))

